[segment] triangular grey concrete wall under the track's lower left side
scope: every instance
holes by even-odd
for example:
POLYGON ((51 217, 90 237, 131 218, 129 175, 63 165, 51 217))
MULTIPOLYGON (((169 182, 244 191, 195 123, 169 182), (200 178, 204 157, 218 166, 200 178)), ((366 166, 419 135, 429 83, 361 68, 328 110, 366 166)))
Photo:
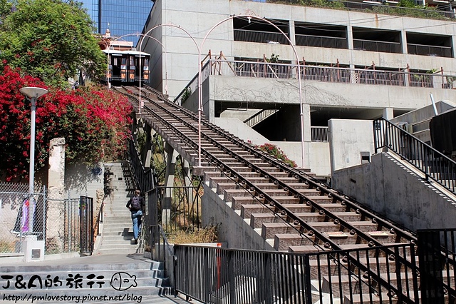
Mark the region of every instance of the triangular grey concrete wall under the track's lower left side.
POLYGON ((226 243, 227 248, 274 250, 208 184, 208 182, 203 184, 204 196, 202 196, 201 203, 202 226, 218 226, 218 241, 226 243))

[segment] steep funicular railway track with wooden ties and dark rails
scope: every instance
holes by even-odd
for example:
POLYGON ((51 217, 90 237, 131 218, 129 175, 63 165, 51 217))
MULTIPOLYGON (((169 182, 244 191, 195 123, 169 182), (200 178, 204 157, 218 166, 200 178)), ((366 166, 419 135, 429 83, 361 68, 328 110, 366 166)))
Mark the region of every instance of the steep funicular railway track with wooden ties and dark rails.
MULTIPOLYGON (((115 89, 128 96, 138 112, 138 88, 115 89)), ((152 88, 142 88, 141 93, 144 103, 141 111, 147 123, 192 166, 197 166, 197 115, 167 101, 152 88)), ((261 228, 263 238, 270 240, 276 250, 348 252, 383 246, 378 255, 383 256, 384 263, 400 262, 403 269, 416 270, 415 252, 388 248, 388 245, 415 244, 414 233, 321 183, 309 171, 291 168, 204 119, 201 123, 201 151, 202 171, 210 188, 216 188, 242 218, 250 219, 252 228, 261 228)), ((380 273, 378 262, 373 271, 367 255, 366 251, 366 260, 362 260, 359 254, 353 257, 347 253, 342 260, 344 263, 350 260, 351 267, 368 273, 369 280, 390 291, 389 298, 403 293, 404 284, 410 289, 407 282, 399 283, 398 280, 392 283, 389 276, 385 278, 380 273)), ((347 275, 351 277, 349 273, 347 275)), ((416 286, 412 289, 417 290, 416 286)), ((416 298, 417 294, 408 295, 409 300, 405 302, 415 303, 410 300, 413 297, 416 298)))

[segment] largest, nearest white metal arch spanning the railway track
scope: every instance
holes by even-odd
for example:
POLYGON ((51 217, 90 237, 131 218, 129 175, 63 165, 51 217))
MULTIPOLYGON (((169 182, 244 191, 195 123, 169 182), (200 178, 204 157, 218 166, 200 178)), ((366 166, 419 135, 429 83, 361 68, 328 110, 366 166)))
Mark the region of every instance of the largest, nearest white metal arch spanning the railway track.
POLYGON ((270 24, 271 26, 274 26, 282 35, 285 36, 286 40, 289 41, 289 44, 290 44, 291 48, 294 51, 294 56, 296 56, 296 64, 298 66, 299 114, 301 116, 301 165, 302 165, 302 168, 304 168, 304 113, 303 113, 303 109, 302 109, 303 102, 302 102, 302 88, 301 88, 301 66, 299 64, 298 52, 296 51, 296 48, 293 46, 293 43, 291 42, 289 37, 286 36, 284 31, 279 29, 278 26, 276 26, 275 24, 273 24, 271 21, 269 21, 267 19, 261 18, 259 16, 255 16, 255 15, 249 15, 249 14, 229 16, 228 18, 226 18, 226 19, 224 19, 222 21, 219 21, 217 24, 212 26, 211 29, 209 29, 209 31, 207 32, 206 36, 204 36, 204 39, 202 40, 201 45, 199 46, 199 51, 198 51, 198 118, 199 118, 199 121, 198 121, 198 159, 199 159, 199 161, 198 161, 198 166, 201 167, 201 115, 202 115, 202 91, 201 91, 202 90, 202 83, 201 83, 202 64, 201 64, 201 50, 202 50, 202 46, 204 44, 204 41, 206 41, 207 36, 209 36, 209 34, 211 34, 211 32, 217 26, 219 26, 220 24, 224 23, 225 21, 228 21, 228 20, 231 20, 231 19, 234 19, 234 18, 242 18, 242 17, 245 17, 245 18, 249 19, 249 23, 250 23, 251 19, 259 19, 261 21, 264 21, 264 22, 270 24))

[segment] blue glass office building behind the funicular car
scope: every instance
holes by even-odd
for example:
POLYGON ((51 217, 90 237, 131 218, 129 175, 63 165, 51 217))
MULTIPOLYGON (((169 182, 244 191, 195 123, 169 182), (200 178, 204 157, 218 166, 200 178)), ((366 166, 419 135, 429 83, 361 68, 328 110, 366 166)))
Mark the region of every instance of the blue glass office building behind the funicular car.
MULTIPOLYGON (((83 7, 95 22, 96 31, 111 36, 140 34, 152 9, 151 0, 83 0, 83 7)), ((126 41, 133 41, 135 46, 138 36, 126 36, 126 41)))

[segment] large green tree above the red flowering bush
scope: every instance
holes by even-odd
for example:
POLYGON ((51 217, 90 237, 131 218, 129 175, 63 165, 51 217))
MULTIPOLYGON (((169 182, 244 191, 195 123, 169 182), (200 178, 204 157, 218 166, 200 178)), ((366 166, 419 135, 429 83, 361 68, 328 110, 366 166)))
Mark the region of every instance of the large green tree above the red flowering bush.
POLYGON ((76 1, 0 0, 0 59, 48 84, 67 86, 83 71, 98 80, 105 57, 93 22, 76 1))

